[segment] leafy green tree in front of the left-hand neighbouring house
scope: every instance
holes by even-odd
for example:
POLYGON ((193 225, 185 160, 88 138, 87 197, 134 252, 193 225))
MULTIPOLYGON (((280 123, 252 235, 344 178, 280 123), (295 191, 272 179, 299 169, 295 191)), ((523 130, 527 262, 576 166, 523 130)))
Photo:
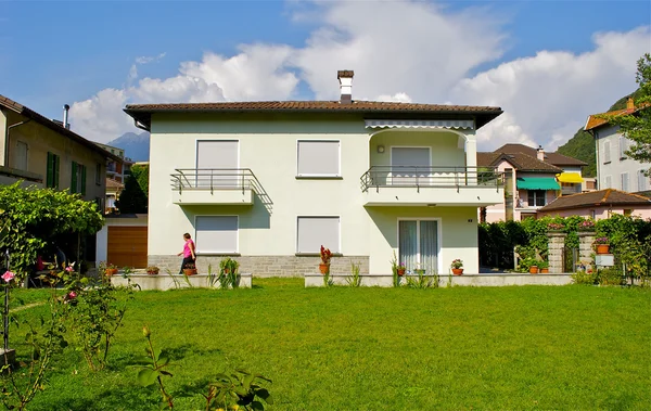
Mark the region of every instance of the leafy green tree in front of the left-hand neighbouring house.
POLYGON ((23 189, 20 182, 0 185, 0 227, 9 227, 9 233, 0 236, 0 249, 9 251, 12 271, 18 274, 29 271, 37 253, 53 239, 77 241, 78 234, 94 234, 103 223, 97 205, 79 194, 23 189))

